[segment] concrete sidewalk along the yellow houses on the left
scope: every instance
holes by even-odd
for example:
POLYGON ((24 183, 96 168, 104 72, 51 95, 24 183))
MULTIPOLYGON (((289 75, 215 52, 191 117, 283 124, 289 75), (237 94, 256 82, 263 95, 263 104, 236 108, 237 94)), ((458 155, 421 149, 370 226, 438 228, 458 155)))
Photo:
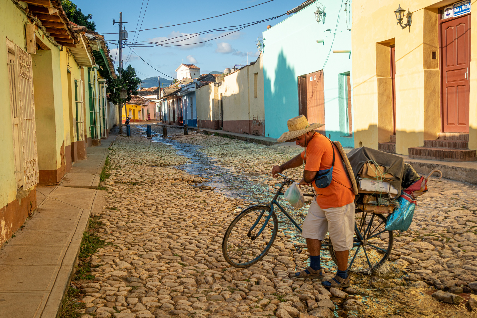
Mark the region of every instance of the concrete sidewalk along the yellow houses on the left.
POLYGON ((0 317, 54 318, 89 215, 103 208, 101 170, 115 135, 87 148, 60 185, 38 186, 38 209, 0 250, 0 317))

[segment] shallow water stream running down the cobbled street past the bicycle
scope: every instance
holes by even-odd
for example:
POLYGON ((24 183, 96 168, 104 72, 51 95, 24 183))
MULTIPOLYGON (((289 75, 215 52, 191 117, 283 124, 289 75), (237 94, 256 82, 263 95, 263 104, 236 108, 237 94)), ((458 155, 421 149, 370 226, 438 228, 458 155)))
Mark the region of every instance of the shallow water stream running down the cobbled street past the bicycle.
MULTIPOLYGON (((146 136, 146 125, 135 125, 133 133, 139 133, 141 137, 146 136)), ((152 125, 152 128, 156 128, 152 125)), ((156 130, 158 130, 156 128, 156 130)), ((178 130, 177 130, 178 132, 178 130)), ((242 173, 237 174, 231 168, 222 166, 213 161, 212 158, 201 152, 200 145, 181 143, 175 139, 159 137, 155 131, 152 131, 152 142, 163 143, 176 149, 178 155, 189 159, 187 164, 177 165, 188 174, 198 175, 206 178, 200 185, 216 187, 215 191, 220 191, 223 195, 237 197, 248 200, 253 204, 268 204, 276 190, 270 191, 268 185, 260 184, 251 179, 259 178, 259 174, 242 173)), ((174 137, 173 135, 171 137, 174 137)), ((278 183, 278 182, 277 182, 278 183)), ((294 210, 287 201, 280 199, 285 210, 290 211, 298 224, 302 224, 306 215, 308 205, 302 207, 299 211, 294 210)), ((245 208, 242 206, 241 208, 245 208)), ((239 209, 237 212, 239 212, 239 209)), ((277 213, 280 222, 280 228, 284 230, 286 236, 293 242, 304 243, 299 231, 281 212, 277 213)), ((335 264, 327 250, 321 252, 322 266, 335 270, 335 264)), ((469 314, 464 303, 459 306, 448 305, 445 303, 436 303, 431 297, 434 291, 427 287, 405 287, 403 280, 404 273, 394 262, 386 263, 381 270, 373 275, 351 274, 353 287, 358 291, 355 296, 364 302, 366 308, 359 317, 389 317, 389 318, 464 318, 476 317, 469 314), (458 308, 458 310, 457 310, 458 308)), ((338 317, 335 312, 335 317, 338 317)), ((353 311, 348 312, 352 314, 353 311)))

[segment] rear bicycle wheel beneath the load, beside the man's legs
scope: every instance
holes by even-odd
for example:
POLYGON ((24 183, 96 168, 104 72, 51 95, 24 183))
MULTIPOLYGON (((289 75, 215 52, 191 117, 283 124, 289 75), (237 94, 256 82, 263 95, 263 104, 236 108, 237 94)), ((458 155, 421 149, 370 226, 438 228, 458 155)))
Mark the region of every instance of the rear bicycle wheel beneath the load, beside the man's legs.
MULTIPOLYGON (((393 249, 393 231, 386 231, 382 214, 357 211, 354 215, 353 247, 348 258, 348 270, 371 274, 381 267, 393 249)), ((336 263, 333 247, 330 255, 336 263)))

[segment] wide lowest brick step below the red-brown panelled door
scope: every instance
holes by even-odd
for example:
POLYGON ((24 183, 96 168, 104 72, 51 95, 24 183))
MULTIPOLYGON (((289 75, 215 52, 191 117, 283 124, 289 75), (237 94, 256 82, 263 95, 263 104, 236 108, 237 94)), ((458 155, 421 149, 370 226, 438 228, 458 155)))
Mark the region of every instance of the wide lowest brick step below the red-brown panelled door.
POLYGON ((432 159, 444 161, 477 161, 475 150, 452 148, 411 147, 408 149, 409 158, 432 159))

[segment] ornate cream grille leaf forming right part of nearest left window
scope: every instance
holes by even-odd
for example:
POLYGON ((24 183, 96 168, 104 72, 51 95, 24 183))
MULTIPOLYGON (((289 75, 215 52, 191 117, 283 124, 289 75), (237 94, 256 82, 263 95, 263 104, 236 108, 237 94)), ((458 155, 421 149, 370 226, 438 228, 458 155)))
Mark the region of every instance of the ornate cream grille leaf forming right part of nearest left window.
POLYGON ((21 141, 23 152, 23 188, 29 189, 39 181, 33 97, 31 55, 15 46, 18 72, 21 141))

